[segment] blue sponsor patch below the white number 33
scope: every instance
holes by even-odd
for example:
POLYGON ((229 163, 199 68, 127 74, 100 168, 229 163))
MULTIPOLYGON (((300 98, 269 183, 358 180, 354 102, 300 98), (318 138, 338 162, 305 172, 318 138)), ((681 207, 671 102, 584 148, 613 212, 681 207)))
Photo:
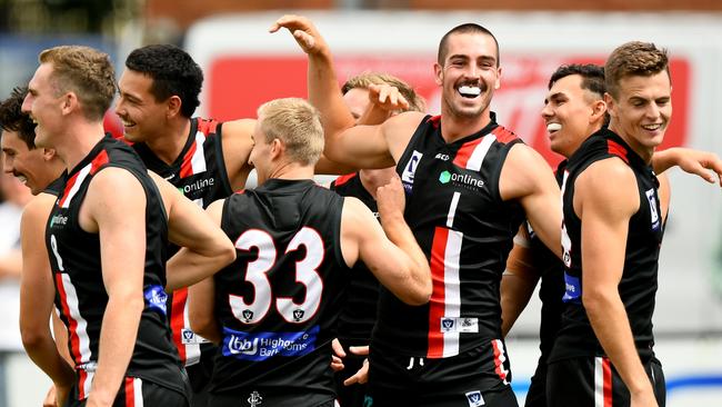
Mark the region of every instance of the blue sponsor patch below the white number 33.
POLYGON ((242 360, 293 357, 315 350, 319 326, 300 332, 242 332, 223 327, 223 356, 242 360))

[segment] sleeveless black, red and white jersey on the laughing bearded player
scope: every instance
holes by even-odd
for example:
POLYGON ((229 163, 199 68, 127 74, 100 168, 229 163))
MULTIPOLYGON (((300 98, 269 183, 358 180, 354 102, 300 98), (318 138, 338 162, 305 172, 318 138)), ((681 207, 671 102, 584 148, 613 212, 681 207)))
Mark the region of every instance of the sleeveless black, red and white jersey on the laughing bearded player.
POLYGON ((499 286, 524 218, 520 205, 499 193, 507 155, 521 140, 492 116, 479 132, 447 143, 441 120, 424 118, 397 167, 405 220, 429 258, 431 300, 409 306, 381 287, 372 340, 429 358, 500 346, 499 286))

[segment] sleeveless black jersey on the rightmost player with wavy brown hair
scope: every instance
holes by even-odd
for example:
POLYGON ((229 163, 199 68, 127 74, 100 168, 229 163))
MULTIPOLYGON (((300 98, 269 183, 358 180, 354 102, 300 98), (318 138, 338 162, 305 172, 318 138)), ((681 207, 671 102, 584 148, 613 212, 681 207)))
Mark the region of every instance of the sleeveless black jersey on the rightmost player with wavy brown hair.
POLYGON ((602 129, 592 135, 570 158, 562 185, 562 249, 564 259, 564 301, 562 327, 550 360, 569 357, 602 356, 604 351, 594 335, 582 305, 581 220, 574 212, 574 182, 593 162, 621 159, 633 171, 639 188, 640 208, 629 222, 624 269, 619 294, 643 360, 653 355, 652 314, 656 292, 656 270, 664 234, 658 197, 659 182, 646 165, 618 135, 602 129))

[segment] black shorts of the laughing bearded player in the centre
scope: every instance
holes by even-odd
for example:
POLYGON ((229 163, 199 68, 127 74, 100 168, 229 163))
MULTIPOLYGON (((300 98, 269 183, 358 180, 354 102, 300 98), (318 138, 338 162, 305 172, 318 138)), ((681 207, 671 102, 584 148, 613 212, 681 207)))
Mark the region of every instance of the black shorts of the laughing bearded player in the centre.
POLYGON ((441 359, 372 348, 365 407, 518 406, 509 385, 509 358, 503 343, 498 344, 441 359))

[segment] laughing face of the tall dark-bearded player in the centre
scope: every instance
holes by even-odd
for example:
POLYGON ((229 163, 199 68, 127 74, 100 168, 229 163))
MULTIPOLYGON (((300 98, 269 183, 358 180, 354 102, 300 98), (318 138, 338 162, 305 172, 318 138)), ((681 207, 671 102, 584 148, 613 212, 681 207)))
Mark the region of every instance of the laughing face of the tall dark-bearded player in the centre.
POLYGON ((497 43, 485 33, 454 33, 448 38, 443 64, 434 64, 437 85, 442 87, 442 115, 475 118, 489 112, 500 86, 497 43))

